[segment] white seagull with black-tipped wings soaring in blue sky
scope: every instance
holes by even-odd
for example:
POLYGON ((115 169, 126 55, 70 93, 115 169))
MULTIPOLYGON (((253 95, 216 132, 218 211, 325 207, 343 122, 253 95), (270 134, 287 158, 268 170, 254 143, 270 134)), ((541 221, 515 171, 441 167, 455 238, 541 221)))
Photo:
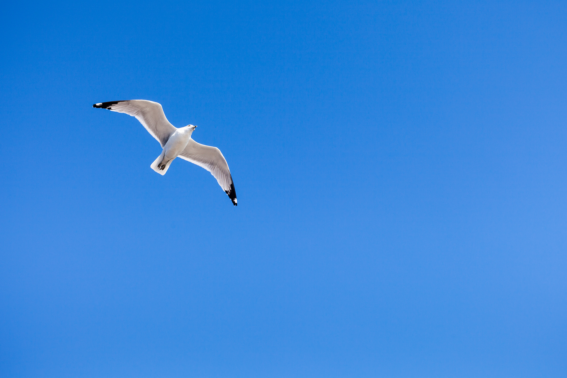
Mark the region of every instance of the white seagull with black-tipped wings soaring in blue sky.
POLYGON ((191 134, 197 126, 187 125, 184 128, 176 128, 167 120, 162 105, 154 103, 154 101, 108 101, 107 103, 94 104, 92 107, 126 113, 140 121, 163 148, 162 153, 150 165, 151 169, 163 176, 170 168, 171 162, 177 157, 197 164, 217 179, 218 184, 229 195, 234 206, 238 206, 229 164, 226 163, 221 150, 217 147, 201 145, 201 143, 191 139, 191 134))

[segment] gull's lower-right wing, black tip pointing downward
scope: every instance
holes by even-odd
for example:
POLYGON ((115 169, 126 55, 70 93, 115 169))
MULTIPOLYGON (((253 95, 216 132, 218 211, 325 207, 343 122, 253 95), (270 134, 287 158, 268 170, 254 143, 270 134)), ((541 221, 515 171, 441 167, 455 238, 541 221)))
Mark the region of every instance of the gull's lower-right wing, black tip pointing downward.
POLYGON ((187 147, 179 154, 179 157, 209 171, 217 179, 218 184, 221 185, 225 193, 229 195, 234 206, 237 206, 236 191, 230 175, 229 164, 226 163, 225 156, 222 156, 221 150, 217 147, 201 145, 201 143, 189 139, 187 147))

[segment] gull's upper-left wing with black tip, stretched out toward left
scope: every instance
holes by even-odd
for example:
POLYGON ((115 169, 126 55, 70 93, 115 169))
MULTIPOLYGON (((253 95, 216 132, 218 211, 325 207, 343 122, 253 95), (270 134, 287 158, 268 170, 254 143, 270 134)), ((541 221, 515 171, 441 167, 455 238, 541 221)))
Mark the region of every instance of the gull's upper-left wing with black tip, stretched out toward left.
POLYGON ((92 105, 93 108, 108 109, 109 111, 126 113, 136 117, 146 128, 152 137, 157 139, 160 145, 166 145, 167 139, 176 130, 175 126, 167 120, 163 113, 162 105, 148 100, 124 100, 109 101, 92 105))

